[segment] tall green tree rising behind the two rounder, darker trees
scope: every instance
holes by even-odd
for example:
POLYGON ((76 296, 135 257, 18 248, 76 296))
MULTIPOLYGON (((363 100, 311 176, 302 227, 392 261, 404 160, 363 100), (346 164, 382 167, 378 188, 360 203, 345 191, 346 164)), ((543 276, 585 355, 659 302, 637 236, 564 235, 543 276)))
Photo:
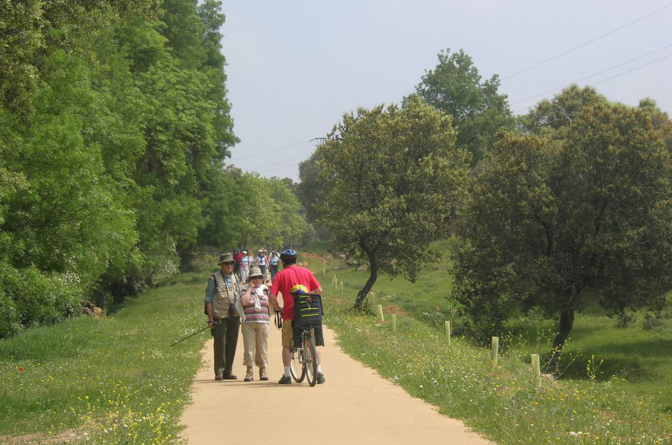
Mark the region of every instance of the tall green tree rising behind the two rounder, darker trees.
POLYGON ((453 117, 455 146, 468 150, 476 164, 497 131, 514 125, 507 97, 497 92, 497 75, 481 82, 478 69, 463 50, 452 54, 450 49, 442 50, 437 57, 439 63, 422 76, 416 92, 427 104, 453 117))

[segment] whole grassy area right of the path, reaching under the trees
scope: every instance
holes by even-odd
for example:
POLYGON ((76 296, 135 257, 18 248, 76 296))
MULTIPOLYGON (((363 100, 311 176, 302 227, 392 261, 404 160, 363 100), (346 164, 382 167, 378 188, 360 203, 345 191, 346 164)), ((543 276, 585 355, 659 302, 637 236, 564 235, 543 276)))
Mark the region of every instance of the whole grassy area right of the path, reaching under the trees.
MULTIPOLYGON (((436 247, 449 248, 449 242, 436 247)), ((369 308, 361 314, 349 312, 367 271, 356 271, 340 262, 325 267, 319 257, 306 256, 323 282, 327 323, 336 330, 339 344, 350 355, 377 369, 411 395, 435 404, 443 414, 462 419, 494 442, 548 445, 672 442, 672 417, 661 407, 661 399, 653 397, 664 392, 664 383, 657 382, 655 386, 656 383, 650 382, 649 388, 638 386, 640 395, 636 395, 630 389, 637 383, 615 375, 603 376, 605 370, 612 368, 604 362, 600 365, 600 358, 588 355, 582 361, 591 350, 604 355, 612 353, 608 360, 613 361, 622 348, 643 352, 649 348, 643 345, 661 346, 650 337, 650 332, 635 335, 634 330, 641 333, 638 327, 624 331, 603 316, 581 316, 576 322, 576 333, 584 337, 580 344, 576 343, 580 350, 573 349, 575 346, 568 348, 570 355, 575 355, 566 368, 566 377, 572 378, 544 379, 541 386, 536 386, 528 365, 529 353, 548 350, 552 324, 519 320, 527 329, 521 329, 515 338, 510 336, 507 353, 496 368, 491 365, 489 351, 475 348, 468 341, 454 339, 447 346, 442 325, 454 313, 454 305, 446 299, 450 278, 444 262, 437 261, 416 284, 400 278, 391 281, 379 278, 374 287, 377 303, 387 312, 397 314, 397 330, 392 332, 389 313, 387 320, 380 322, 369 308), (344 283, 343 292, 340 284, 337 287, 330 284, 334 274, 344 283), (619 334, 605 330, 606 327, 619 329, 619 334), (625 339, 624 332, 632 335, 625 339), (534 341, 528 341, 528 337, 534 341), (617 344, 614 339, 619 339, 617 344), (603 347, 609 343, 611 351, 603 347), (577 371, 579 367, 582 373, 577 371)), ((654 355, 660 360, 650 369, 660 366, 659 371, 663 372, 664 365, 669 365, 671 359, 664 357, 664 351, 654 355)))

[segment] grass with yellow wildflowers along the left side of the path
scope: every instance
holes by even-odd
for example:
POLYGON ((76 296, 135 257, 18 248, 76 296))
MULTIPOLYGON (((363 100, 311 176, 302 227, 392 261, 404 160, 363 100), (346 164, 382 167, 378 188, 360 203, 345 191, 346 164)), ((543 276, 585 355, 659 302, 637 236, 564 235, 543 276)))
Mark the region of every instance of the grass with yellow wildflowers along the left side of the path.
POLYGON ((204 277, 184 275, 105 318, 0 341, 0 443, 172 442, 207 330, 204 277))

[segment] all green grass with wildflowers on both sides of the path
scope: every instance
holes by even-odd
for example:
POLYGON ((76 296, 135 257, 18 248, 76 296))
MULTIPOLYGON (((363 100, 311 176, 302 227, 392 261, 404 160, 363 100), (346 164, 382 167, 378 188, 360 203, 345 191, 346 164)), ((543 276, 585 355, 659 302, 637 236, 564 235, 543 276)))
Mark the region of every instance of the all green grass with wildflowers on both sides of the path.
MULTIPOLYGON (((447 250, 449 241, 435 243, 447 250)), ((381 276, 377 302, 398 313, 397 332, 348 309, 368 276, 336 261, 304 255, 325 290, 327 322, 353 357, 410 394, 463 419, 498 444, 669 444, 672 419, 671 332, 668 318, 642 330, 591 308, 577 316, 561 381, 531 383, 529 353, 545 353, 553 324, 517 320, 507 351, 492 369, 489 352, 456 338, 445 345, 443 321, 454 316, 445 260, 417 283, 381 276), (330 285, 346 283, 344 295, 330 285), (594 359, 591 360, 591 356, 594 359), (587 373, 589 360, 594 364, 587 373), (600 364, 601 362, 601 364, 600 364), (612 376, 615 375, 614 376, 612 376), (623 380, 625 379, 625 380, 623 380), (579 434, 581 433, 581 434, 579 434)), ((197 329, 207 272, 166 278, 114 316, 76 318, 0 341, 0 443, 173 444, 207 331, 197 329), (35 435, 34 435, 35 434, 35 435)), ((668 312, 666 313, 666 316, 668 312)))

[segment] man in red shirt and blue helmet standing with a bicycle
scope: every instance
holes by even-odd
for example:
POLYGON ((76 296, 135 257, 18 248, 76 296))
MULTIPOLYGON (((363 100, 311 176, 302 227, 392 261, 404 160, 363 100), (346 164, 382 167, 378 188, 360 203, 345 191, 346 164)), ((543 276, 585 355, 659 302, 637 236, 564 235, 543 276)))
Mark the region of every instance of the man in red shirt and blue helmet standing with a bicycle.
MULTIPOLYGON (((289 347, 293 337, 292 320, 294 318, 294 297, 289 291, 295 285, 301 284, 306 286, 311 294, 322 295, 322 287, 320 283, 318 283, 317 278, 315 278, 310 269, 297 266, 296 258, 296 250, 286 249, 282 251, 280 254, 282 270, 276 274, 275 279, 273 280, 269 298, 276 311, 282 309, 282 365, 284 367, 284 372, 282 378, 278 382, 281 385, 292 383, 292 378, 290 376, 292 353, 290 352, 289 347), (282 294, 282 308, 278 304, 278 292, 282 294)), ((317 351, 317 383, 324 383, 319 351, 317 351)))

